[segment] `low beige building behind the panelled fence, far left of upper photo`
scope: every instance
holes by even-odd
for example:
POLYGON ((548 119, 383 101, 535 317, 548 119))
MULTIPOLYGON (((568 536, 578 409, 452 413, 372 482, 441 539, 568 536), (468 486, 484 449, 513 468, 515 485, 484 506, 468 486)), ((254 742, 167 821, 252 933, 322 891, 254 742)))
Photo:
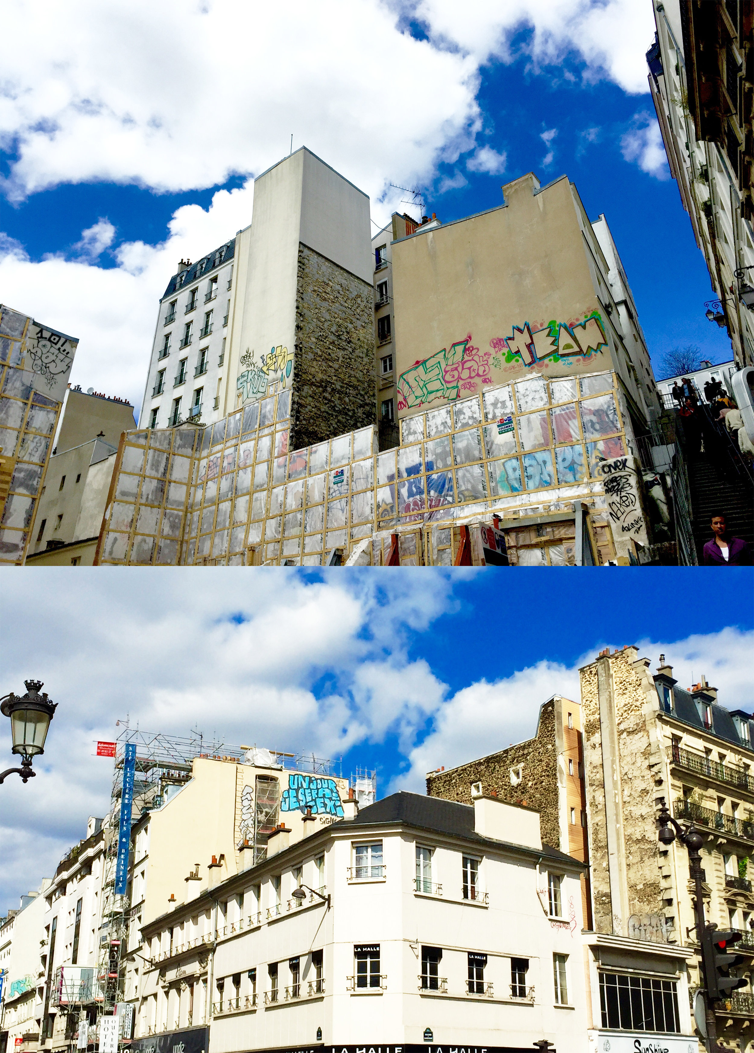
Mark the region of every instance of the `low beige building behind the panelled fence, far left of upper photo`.
POLYGON ((120 438, 134 426, 127 400, 68 388, 28 565, 91 567, 120 438))

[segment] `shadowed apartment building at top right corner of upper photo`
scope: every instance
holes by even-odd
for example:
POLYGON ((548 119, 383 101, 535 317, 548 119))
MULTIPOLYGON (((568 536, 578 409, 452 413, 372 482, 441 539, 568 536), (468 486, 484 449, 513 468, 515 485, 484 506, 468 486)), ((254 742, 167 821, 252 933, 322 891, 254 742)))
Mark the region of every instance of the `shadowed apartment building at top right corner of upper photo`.
POLYGON ((649 86, 668 164, 728 331, 737 369, 754 362, 754 6, 655 3, 649 86))

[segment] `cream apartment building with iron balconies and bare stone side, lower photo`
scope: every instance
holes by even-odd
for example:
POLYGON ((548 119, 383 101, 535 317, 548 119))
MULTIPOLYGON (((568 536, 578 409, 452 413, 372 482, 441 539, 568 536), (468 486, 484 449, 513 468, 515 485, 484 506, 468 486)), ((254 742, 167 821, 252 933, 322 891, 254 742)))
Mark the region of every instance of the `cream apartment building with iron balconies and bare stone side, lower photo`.
MULTIPOLYGON (((579 671, 594 928, 618 941, 645 934, 657 947, 697 950, 687 850, 657 841, 665 800, 705 837, 707 920, 741 934, 749 985, 715 1012, 718 1034, 743 1050, 754 1034, 754 716, 719 704, 704 676, 682 689, 664 655, 655 674, 649 667, 626 647, 579 671)), ((688 969, 698 987, 695 955, 688 969)))

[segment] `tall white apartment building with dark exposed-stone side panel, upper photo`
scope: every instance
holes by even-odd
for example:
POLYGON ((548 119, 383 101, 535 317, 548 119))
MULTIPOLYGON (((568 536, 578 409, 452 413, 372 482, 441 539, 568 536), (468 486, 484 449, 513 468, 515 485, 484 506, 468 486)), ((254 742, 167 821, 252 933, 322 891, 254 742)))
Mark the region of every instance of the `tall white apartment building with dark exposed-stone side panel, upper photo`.
POLYGON ((278 392, 291 449, 372 423, 369 199, 306 147, 254 180, 251 223, 160 301, 140 422, 210 424, 278 392))

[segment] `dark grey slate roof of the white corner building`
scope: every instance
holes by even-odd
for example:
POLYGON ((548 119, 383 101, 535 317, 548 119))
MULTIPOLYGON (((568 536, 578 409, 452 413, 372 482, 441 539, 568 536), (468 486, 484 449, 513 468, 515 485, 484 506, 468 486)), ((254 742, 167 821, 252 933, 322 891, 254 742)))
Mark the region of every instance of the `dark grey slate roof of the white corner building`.
MULTIPOLYGON (((516 846, 514 841, 498 841, 492 837, 483 837, 474 831, 474 807, 473 804, 460 804, 454 800, 444 800, 442 797, 425 797, 417 793, 407 793, 404 790, 399 793, 383 797, 374 804, 368 804, 360 810, 355 819, 342 819, 337 826, 383 826, 389 822, 403 822, 407 827, 414 827, 420 830, 431 830, 439 834, 449 834, 453 837, 462 837, 465 840, 473 841, 480 846, 510 845, 511 847, 526 848, 526 851, 535 855, 539 854, 538 849, 526 846, 516 846)), ((543 858, 559 859, 563 862, 585 868, 585 863, 573 856, 566 855, 558 849, 553 849, 549 845, 542 847, 543 858)))

